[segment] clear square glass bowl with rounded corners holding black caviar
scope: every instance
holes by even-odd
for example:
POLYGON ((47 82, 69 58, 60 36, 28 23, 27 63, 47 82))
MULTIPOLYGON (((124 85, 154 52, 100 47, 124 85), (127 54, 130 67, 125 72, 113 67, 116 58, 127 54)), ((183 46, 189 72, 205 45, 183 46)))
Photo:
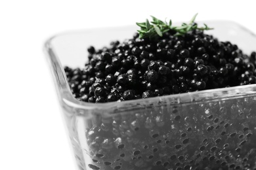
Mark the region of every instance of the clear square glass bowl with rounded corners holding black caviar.
MULTIPOLYGON (((256 36, 234 22, 205 22, 220 41, 256 50, 256 36)), ((64 65, 82 67, 87 47, 123 41, 137 27, 63 33, 45 43, 79 169, 255 169, 256 85, 113 103, 84 103, 64 65)), ((53 113, 54 114, 54 113, 53 113)))

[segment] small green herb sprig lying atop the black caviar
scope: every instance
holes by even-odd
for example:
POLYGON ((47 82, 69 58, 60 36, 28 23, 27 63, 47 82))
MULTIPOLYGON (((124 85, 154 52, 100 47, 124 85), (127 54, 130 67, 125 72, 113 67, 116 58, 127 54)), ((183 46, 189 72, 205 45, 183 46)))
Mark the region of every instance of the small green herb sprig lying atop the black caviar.
POLYGON ((176 32, 175 36, 179 36, 179 35, 184 35, 188 31, 192 31, 195 29, 199 29, 199 30, 213 29, 211 27, 208 27, 206 24, 203 24, 204 27, 198 27, 198 24, 195 23, 197 15, 198 14, 195 14, 188 24, 183 23, 181 26, 173 26, 171 20, 169 20, 169 22, 167 23, 166 21, 163 22, 158 18, 151 16, 153 20, 152 22, 149 22, 148 19, 146 19, 146 22, 136 23, 140 27, 140 30, 137 30, 139 32, 139 38, 140 39, 144 39, 146 37, 152 38, 152 37, 156 37, 157 35, 162 37, 163 33, 170 30, 173 30, 176 32))

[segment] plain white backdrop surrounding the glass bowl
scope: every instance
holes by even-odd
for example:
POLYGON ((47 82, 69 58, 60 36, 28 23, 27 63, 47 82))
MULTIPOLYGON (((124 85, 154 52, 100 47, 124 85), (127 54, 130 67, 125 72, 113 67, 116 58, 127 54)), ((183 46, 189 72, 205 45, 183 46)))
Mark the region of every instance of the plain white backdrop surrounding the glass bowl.
POLYGON ((196 12, 198 20, 233 20, 256 32, 253 0, 1 0, 0 169, 75 169, 42 50, 47 38, 62 31, 131 25, 150 15, 188 21, 196 12))

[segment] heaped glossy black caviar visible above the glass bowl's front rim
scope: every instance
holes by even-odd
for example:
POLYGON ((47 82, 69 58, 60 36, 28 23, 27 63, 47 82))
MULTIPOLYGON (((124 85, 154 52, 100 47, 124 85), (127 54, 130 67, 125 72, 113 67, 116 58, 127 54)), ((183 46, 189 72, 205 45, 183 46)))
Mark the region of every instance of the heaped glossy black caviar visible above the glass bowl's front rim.
POLYGON ((88 48, 83 69, 65 67, 74 97, 89 103, 125 101, 256 83, 256 53, 203 31, 154 39, 113 41, 109 48, 88 48))

